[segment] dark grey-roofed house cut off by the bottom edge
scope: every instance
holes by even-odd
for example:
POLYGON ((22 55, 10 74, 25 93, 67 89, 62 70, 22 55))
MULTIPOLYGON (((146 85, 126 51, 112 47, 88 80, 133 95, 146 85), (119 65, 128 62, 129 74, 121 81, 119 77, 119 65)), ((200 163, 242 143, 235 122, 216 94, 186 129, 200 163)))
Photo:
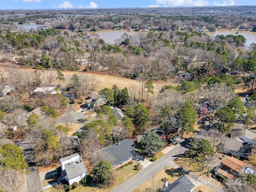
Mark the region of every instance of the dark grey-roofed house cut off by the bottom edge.
POLYGON ((186 176, 180 176, 173 183, 164 181, 164 186, 160 188, 160 192, 194 192, 195 185, 186 176))

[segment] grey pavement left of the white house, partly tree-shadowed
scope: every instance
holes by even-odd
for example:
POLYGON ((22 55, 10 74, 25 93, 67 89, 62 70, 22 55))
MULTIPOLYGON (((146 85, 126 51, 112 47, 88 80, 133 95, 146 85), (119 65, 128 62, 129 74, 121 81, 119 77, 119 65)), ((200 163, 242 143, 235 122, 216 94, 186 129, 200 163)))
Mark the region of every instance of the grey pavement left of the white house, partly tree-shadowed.
POLYGON ((40 182, 40 176, 36 164, 34 163, 34 142, 31 138, 25 138, 24 140, 16 141, 16 144, 23 149, 23 155, 28 163, 30 172, 25 176, 25 186, 28 192, 42 192, 42 186, 40 182))

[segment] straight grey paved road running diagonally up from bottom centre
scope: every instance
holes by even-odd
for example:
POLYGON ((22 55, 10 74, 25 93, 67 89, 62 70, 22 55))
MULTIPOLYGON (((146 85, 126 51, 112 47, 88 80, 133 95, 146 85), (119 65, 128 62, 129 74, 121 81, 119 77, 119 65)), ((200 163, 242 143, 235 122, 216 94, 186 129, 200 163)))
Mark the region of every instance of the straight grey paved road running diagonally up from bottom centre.
POLYGON ((150 179, 154 174, 162 170, 166 165, 174 166, 173 160, 176 157, 173 157, 177 154, 181 154, 186 149, 180 145, 177 145, 173 150, 162 156, 159 160, 152 163, 150 166, 141 170, 138 174, 128 179, 126 182, 123 182, 116 188, 112 189, 110 192, 131 192, 141 184, 150 179))

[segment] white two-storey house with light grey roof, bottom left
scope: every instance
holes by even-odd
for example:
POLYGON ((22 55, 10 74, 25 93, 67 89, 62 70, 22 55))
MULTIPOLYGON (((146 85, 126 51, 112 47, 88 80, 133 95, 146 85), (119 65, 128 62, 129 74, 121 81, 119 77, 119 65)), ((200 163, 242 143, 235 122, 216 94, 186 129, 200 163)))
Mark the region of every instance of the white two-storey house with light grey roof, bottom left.
POLYGON ((83 177, 88 175, 86 165, 82 161, 81 154, 72 154, 60 159, 61 176, 69 185, 74 182, 80 182, 83 177))

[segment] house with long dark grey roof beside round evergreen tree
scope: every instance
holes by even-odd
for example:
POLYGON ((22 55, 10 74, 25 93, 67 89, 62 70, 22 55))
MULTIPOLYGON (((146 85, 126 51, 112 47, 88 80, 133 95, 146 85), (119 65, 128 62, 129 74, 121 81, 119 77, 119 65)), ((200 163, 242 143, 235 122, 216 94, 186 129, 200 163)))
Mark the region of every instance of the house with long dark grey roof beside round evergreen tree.
POLYGON ((134 150, 135 144, 130 139, 124 139, 102 150, 108 152, 109 157, 114 157, 113 168, 117 168, 132 160, 131 151, 134 150))

